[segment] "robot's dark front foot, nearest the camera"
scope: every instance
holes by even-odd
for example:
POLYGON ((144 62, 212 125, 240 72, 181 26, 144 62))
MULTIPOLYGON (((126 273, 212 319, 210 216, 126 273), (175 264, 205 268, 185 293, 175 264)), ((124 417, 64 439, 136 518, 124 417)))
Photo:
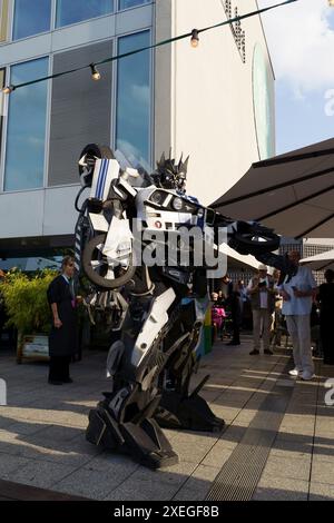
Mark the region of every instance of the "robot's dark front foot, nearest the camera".
POLYGON ((89 413, 86 438, 104 450, 130 454, 149 468, 178 463, 177 454, 155 420, 146 418, 140 424, 118 423, 101 405, 89 413))

